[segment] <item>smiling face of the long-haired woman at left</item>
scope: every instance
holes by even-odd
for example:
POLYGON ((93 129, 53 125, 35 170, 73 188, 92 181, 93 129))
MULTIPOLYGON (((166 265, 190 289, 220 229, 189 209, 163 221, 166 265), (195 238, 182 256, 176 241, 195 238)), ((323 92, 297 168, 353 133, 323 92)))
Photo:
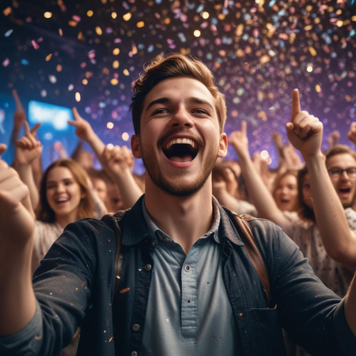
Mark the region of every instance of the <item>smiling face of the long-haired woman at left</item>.
POLYGON ((70 216, 74 221, 78 215, 81 199, 85 195, 68 168, 54 167, 47 176, 46 197, 56 218, 70 216))

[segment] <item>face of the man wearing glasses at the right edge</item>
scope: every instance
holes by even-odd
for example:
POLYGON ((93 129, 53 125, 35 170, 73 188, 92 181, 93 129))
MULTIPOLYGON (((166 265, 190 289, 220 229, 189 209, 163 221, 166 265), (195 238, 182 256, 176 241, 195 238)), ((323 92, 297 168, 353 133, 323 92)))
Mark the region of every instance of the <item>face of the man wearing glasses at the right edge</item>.
POLYGON ((336 154, 327 160, 326 168, 343 207, 351 207, 356 194, 356 175, 352 170, 349 174, 341 170, 356 168, 355 159, 348 153, 336 154))

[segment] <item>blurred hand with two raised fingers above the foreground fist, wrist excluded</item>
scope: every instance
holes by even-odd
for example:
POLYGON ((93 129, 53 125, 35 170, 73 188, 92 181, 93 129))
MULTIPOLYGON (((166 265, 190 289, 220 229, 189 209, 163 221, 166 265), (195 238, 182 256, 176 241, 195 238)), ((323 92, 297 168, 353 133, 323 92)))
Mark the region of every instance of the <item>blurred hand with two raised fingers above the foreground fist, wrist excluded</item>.
POLYGON ((41 124, 35 124, 30 130, 27 121, 24 122, 25 135, 16 141, 15 145, 15 162, 19 165, 31 164, 42 153, 40 141, 35 139, 35 132, 41 124))

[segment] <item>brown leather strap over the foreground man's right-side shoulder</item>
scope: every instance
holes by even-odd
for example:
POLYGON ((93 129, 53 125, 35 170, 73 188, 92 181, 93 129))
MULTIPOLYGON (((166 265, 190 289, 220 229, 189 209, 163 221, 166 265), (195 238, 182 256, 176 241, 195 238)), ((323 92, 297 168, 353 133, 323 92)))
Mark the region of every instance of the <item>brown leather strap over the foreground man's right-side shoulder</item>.
POLYGON ((234 221, 238 227, 239 232, 241 232, 241 238, 243 243, 245 243, 245 252, 250 257, 250 260, 254 266, 254 269, 259 276, 262 286, 264 287, 264 292, 267 297, 267 304, 270 307, 270 282, 268 280, 268 274, 266 270, 266 264, 262 258, 261 252, 257 246, 256 240, 252 234, 248 221, 254 218, 248 214, 238 215, 233 213, 234 221))

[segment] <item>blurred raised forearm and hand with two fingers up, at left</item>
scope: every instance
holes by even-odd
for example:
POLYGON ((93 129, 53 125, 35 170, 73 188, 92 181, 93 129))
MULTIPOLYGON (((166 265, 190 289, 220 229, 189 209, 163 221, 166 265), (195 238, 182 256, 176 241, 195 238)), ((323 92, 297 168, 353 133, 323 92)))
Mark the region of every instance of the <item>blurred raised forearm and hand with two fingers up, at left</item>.
POLYGON ((13 167, 19 173, 21 180, 29 187, 31 203, 33 209, 38 205, 39 195, 38 188, 33 179, 32 163, 38 159, 42 152, 42 145, 40 141, 35 139, 35 131, 37 131, 40 124, 36 124, 30 130, 29 124, 25 121, 25 135, 16 142, 15 146, 15 161, 13 167))

